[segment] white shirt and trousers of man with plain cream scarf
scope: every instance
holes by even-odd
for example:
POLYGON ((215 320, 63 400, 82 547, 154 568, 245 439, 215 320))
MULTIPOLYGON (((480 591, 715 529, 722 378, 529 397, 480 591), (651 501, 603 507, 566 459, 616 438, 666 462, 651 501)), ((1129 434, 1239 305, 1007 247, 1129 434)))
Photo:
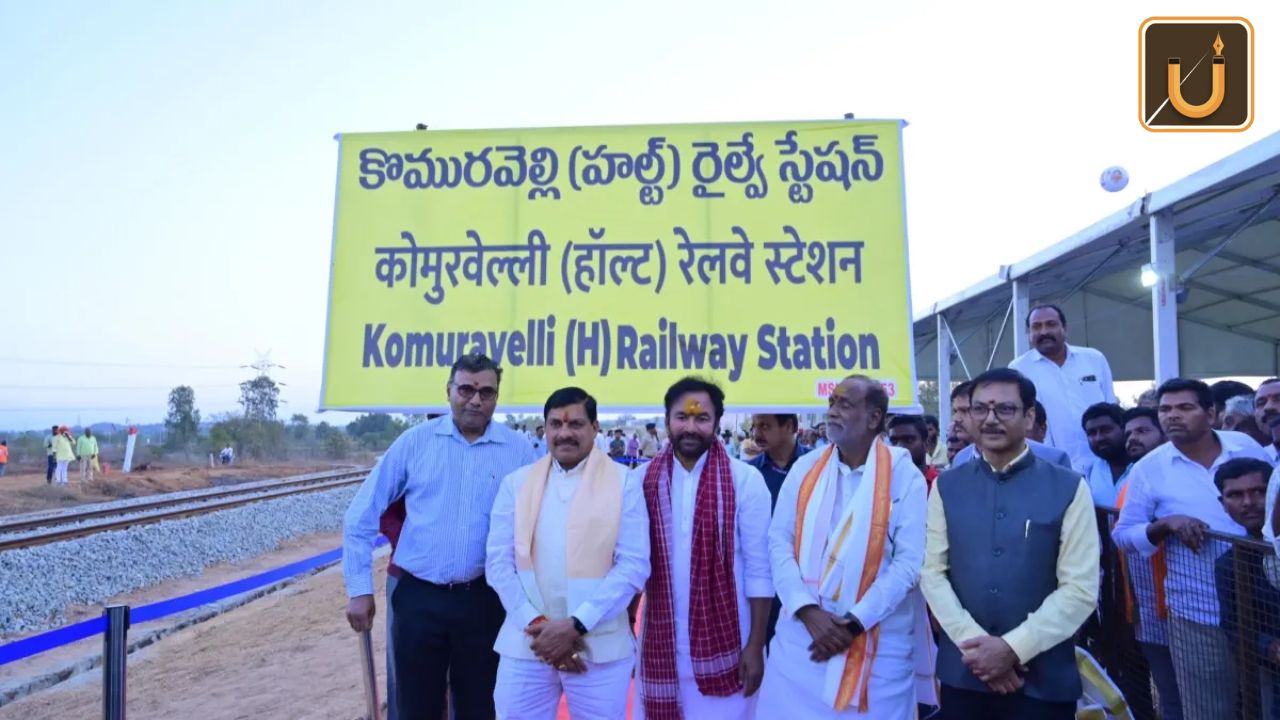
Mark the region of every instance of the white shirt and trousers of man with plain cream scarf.
MULTIPOLYGON (((621 465, 599 451, 593 451, 593 457, 622 483, 613 566, 600 579, 570 577, 571 509, 588 461, 564 471, 553 459, 545 459, 550 471, 531 547, 535 588, 530 588, 527 575, 521 579, 517 569, 516 514, 530 468, 539 465, 507 475, 494 500, 485 577, 507 610, 507 620, 494 643, 494 651, 502 656, 494 688, 499 719, 552 720, 562 693, 575 720, 612 720, 626 714, 627 688, 635 666, 635 638, 626 610, 649 577, 649 514, 640 480, 627 477, 621 465), (586 625, 586 650, 580 653, 586 673, 562 673, 534 655, 525 628, 539 615, 548 620, 572 615, 586 625)), ((588 537, 607 533, 595 532, 594 527, 591 530, 588 537)))

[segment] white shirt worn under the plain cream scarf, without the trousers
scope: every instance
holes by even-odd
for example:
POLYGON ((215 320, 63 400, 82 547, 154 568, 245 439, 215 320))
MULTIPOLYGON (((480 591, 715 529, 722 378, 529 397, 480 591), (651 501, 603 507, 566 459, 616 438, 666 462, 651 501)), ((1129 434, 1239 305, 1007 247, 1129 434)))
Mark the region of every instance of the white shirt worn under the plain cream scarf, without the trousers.
MULTIPOLYGON (((626 612, 631 598, 644 589, 644 583, 649 579, 649 512, 644 502, 644 475, 637 479, 628 473, 622 486, 622 516, 613 548, 613 568, 590 600, 577 607, 567 607, 568 506, 585 466, 584 461, 566 473, 559 462, 552 460, 538 529, 534 533, 534 571, 538 591, 548 606, 548 619, 559 620, 572 615, 590 632, 602 621, 626 612), (557 594, 558 602, 553 600, 557 594)), ((489 538, 485 544, 485 579, 498 593, 507 610, 508 623, 513 623, 517 632, 524 632, 529 623, 543 614, 529 602, 520 575, 516 574, 516 497, 527 474, 529 468, 525 466, 502 479, 489 516, 489 538)), ((588 639, 590 641, 590 635, 588 639)), ((502 653, 508 655, 511 650, 502 653)), ((530 651, 526 659, 531 657, 530 651)))

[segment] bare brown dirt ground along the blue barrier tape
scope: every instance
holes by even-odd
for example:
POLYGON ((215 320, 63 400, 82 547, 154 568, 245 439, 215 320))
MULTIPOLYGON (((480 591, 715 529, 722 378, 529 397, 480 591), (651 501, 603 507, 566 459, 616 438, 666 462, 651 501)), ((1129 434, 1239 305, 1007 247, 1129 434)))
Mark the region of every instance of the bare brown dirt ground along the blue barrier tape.
MULTIPOLYGON (((338 542, 337 534, 315 536, 291 551, 308 555, 338 542)), ((269 566, 287 561, 273 557, 269 566)), ((266 560, 256 562, 266 564, 266 560)), ((374 653, 379 688, 385 688, 385 557, 375 562, 374 653)), ((241 565, 236 577, 250 573, 241 565)), ((207 575, 198 587, 216 584, 207 575)), ((166 591, 165 594, 175 593, 166 591)), ((356 635, 347 626, 344 609, 342 571, 334 566, 131 655, 129 719, 353 720, 362 716, 360 651, 356 635)), ((100 639, 96 643, 101 647, 100 639)), ((93 670, 0 707, 0 720, 100 716, 101 676, 101 670, 93 670)))

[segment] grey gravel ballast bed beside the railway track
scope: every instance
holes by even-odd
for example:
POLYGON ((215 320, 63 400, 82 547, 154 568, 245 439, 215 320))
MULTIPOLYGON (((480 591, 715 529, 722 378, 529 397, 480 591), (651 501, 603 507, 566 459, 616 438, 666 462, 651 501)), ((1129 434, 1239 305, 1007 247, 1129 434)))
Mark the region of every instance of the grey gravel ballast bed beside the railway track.
POLYGON ((0 634, 54 628, 70 605, 198 575, 209 565, 275 550, 288 538, 334 530, 357 487, 0 552, 0 634))

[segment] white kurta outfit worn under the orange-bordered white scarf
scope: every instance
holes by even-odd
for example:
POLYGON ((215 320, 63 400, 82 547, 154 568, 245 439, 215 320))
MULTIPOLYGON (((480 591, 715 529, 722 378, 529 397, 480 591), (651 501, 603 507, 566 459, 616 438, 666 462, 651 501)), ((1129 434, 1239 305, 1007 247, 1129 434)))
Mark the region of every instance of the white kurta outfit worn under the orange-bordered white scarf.
MULTIPOLYGON (((814 487, 809 502, 813 510, 805 529, 809 530, 815 512, 831 514, 829 533, 820 548, 823 560, 831 553, 831 543, 841 527, 851 518, 836 566, 820 587, 805 582, 805 573, 796 561, 795 536, 800 486, 822 459, 822 451, 805 455, 787 473, 769 528, 773 583, 782 600, 782 615, 769 646, 769 661, 760 688, 762 717, 909 720, 915 717, 916 702, 937 705, 932 635, 924 598, 916 587, 924 564, 925 483, 906 451, 896 447, 888 451, 892 475, 887 538, 879 570, 860 601, 856 597, 869 539, 876 447, 872 447, 867 464, 856 469, 840 462, 838 454, 832 451, 814 487), (832 600, 841 577, 840 600, 832 600), (867 656, 872 666, 865 714, 859 712, 858 697, 844 711, 836 710, 835 696, 846 655, 826 662, 809 659, 813 638, 795 612, 815 603, 840 616, 852 612, 868 634, 879 628, 874 657, 869 651, 867 656)), ((814 538, 810 542, 822 541, 814 538)))

